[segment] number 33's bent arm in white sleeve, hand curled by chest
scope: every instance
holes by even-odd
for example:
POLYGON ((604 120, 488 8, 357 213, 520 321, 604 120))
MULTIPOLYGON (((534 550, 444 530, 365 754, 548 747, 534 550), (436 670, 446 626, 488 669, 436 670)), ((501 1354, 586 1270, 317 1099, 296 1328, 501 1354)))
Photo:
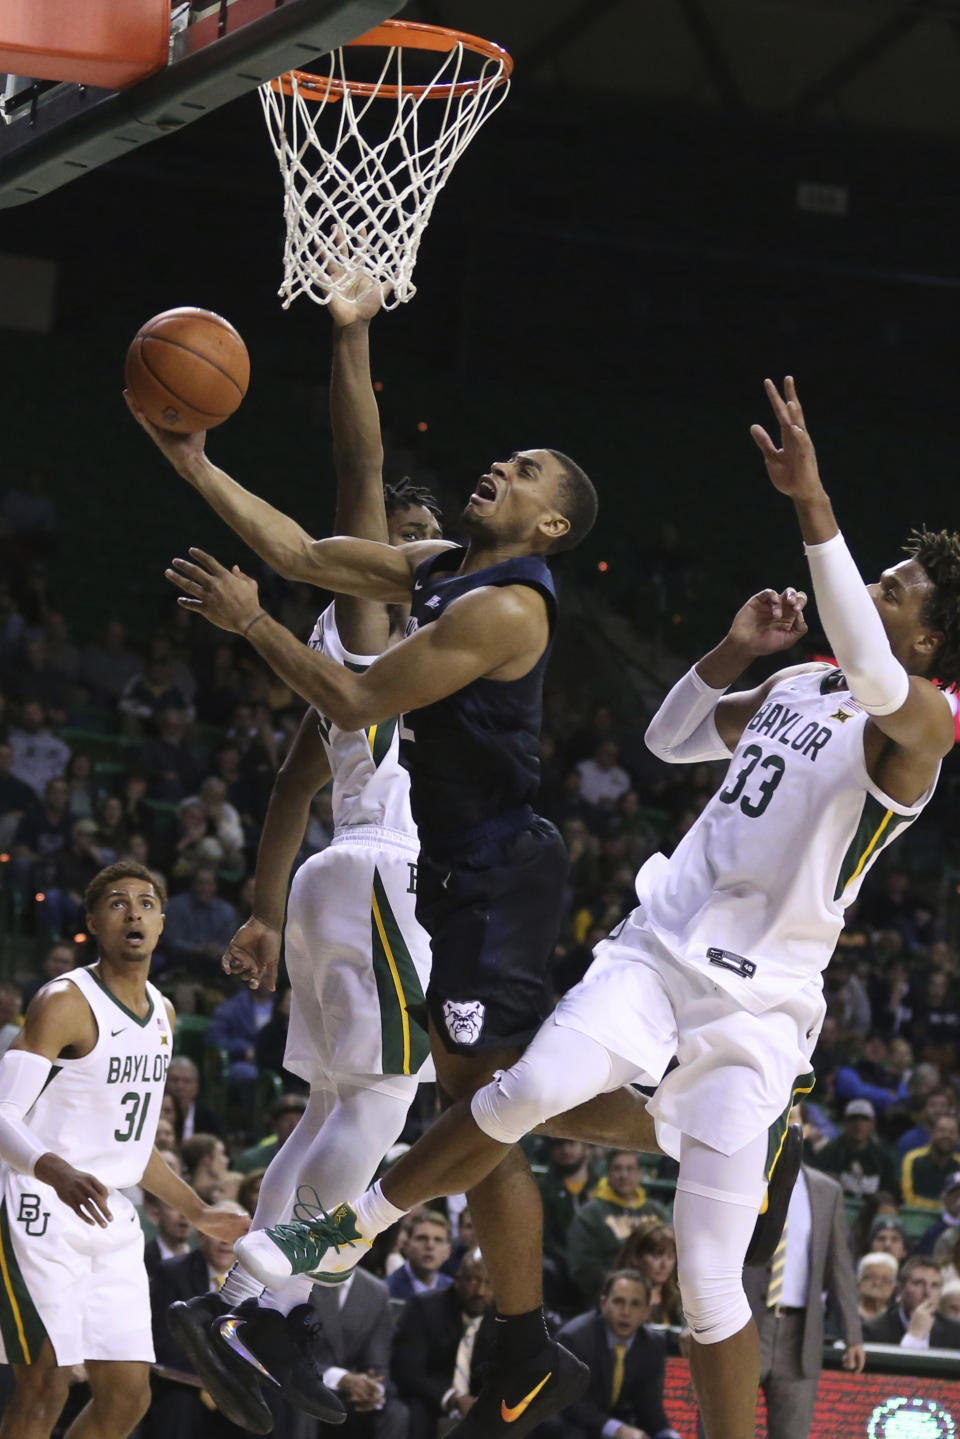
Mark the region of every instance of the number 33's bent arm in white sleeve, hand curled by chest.
MULTIPOLYGON (((674 685, 646 730, 646 745, 669 764, 725 760, 769 689, 725 689, 761 655, 790 649, 806 635, 803 590, 760 590, 737 612, 724 639, 674 685)), ((805 666, 800 666, 805 668, 805 666)))

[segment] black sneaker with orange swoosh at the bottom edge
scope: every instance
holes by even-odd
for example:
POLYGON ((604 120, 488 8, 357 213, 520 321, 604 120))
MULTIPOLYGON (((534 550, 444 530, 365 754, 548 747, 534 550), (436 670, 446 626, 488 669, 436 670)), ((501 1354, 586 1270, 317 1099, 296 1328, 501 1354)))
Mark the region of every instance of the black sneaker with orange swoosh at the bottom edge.
POLYGON ((521 1439, 586 1392, 590 1370, 556 1340, 522 1364, 494 1360, 484 1387, 450 1439, 521 1439))

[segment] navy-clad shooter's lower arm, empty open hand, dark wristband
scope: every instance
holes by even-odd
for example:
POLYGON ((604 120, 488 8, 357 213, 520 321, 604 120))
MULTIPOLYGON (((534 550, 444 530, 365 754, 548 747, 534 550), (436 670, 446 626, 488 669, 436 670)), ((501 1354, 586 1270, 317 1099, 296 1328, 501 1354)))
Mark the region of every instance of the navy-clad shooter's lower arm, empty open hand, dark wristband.
POLYGON ((245 635, 271 669, 341 730, 361 730, 420 709, 474 679, 517 679, 543 655, 550 637, 547 606, 527 586, 471 590, 438 620, 394 645, 363 673, 308 649, 261 609, 256 583, 236 566, 225 570, 191 550, 196 563, 174 560, 167 578, 180 604, 220 629, 245 635))

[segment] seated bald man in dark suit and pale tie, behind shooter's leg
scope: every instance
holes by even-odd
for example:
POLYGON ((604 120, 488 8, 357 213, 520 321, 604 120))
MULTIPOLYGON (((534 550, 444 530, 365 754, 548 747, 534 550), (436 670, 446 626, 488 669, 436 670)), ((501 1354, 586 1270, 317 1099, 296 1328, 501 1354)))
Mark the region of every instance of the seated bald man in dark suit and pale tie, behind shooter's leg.
POLYGON ((469 1413, 494 1351, 494 1291, 479 1249, 453 1284, 407 1299, 393 1341, 391 1374, 410 1413, 410 1439, 436 1439, 469 1413))

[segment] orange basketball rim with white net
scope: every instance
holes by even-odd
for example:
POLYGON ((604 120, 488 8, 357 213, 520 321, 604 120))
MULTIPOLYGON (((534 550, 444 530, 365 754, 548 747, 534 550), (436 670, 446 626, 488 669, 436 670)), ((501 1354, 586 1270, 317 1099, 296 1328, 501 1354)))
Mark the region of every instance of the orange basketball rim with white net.
MULTIPOLYGON (((507 98, 514 62, 489 40, 406 20, 384 20, 324 59, 325 73, 289 71, 261 86, 284 180, 279 295, 284 309, 298 295, 325 305, 361 269, 393 309, 416 294, 413 266, 438 191, 507 98), (379 72, 350 76, 347 52, 373 47, 387 52, 379 72), (412 75, 422 58, 406 52, 435 52, 439 66, 426 79, 412 75)), ((356 69, 358 56, 350 59, 356 69)))

